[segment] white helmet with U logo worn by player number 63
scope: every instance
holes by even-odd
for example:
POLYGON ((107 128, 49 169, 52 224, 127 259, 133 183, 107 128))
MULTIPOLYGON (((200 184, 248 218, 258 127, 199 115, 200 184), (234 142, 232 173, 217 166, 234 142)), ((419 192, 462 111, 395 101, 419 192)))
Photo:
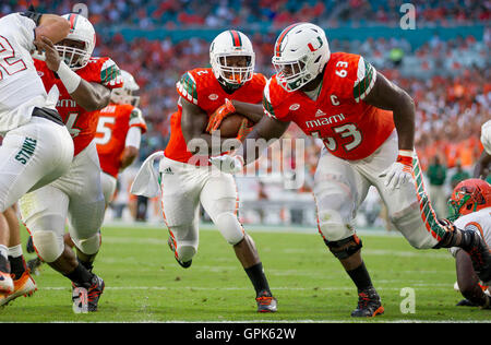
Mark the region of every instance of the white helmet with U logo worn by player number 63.
POLYGON ((311 23, 297 23, 276 39, 272 62, 279 85, 292 92, 322 73, 330 57, 324 29, 311 23))

